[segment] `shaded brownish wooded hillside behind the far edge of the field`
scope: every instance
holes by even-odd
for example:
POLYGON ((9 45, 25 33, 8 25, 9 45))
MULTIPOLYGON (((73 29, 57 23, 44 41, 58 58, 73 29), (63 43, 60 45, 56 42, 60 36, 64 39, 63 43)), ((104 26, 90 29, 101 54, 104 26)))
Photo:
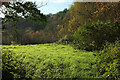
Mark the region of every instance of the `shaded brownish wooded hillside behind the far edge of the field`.
MULTIPOLYGON (((30 18, 19 19, 14 25, 13 23, 5 23, 3 25, 2 44, 40 44, 56 42, 60 38, 58 36, 57 25, 63 23, 63 18, 68 10, 64 9, 56 14, 48 14, 46 22, 33 21, 30 18)), ((4 21, 4 20, 3 20, 4 21)))

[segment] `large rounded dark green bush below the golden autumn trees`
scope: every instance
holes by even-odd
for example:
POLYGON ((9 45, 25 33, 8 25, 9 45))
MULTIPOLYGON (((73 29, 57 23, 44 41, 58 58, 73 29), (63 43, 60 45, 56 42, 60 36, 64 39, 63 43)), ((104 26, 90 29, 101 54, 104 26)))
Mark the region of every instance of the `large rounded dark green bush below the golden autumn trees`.
POLYGON ((75 47, 85 50, 99 50, 103 44, 114 42, 120 39, 120 26, 118 23, 110 23, 109 21, 97 21, 91 24, 84 24, 81 29, 75 32, 75 47))

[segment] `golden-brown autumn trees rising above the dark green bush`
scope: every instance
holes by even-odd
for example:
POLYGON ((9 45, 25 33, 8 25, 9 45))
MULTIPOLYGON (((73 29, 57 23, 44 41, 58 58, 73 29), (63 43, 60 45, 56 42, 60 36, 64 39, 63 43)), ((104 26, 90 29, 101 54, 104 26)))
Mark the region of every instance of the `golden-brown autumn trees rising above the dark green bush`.
POLYGON ((58 33, 61 37, 69 34, 73 35, 76 31, 82 30, 81 26, 83 24, 91 24, 98 20, 119 24, 119 4, 119 2, 74 2, 69 9, 69 14, 64 18, 64 23, 58 25, 58 33))

